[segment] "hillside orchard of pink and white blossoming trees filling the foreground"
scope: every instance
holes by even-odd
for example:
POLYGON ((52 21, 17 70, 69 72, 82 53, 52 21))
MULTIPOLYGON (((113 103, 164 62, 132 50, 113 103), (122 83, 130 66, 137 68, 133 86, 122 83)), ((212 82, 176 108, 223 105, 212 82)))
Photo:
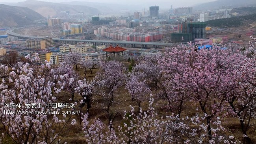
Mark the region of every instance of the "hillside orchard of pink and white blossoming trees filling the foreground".
POLYGON ((119 61, 41 65, 38 55, 12 67, 0 65, 2 143, 71 143, 69 135, 77 130, 84 136, 80 143, 89 144, 254 143, 256 39, 251 39, 248 48, 198 50, 192 43, 166 48, 140 57, 131 71, 119 61), (88 81, 73 65, 85 76, 87 69, 97 72, 88 81), (83 114, 17 113, 67 109, 47 106, 57 102, 72 102, 71 111, 83 114))

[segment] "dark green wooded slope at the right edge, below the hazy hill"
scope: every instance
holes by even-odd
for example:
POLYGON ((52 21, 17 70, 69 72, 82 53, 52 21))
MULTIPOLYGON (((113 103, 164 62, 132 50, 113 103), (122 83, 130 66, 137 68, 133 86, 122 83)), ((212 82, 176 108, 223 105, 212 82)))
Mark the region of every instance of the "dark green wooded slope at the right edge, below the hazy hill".
POLYGON ((205 23, 209 26, 216 26, 216 27, 238 27, 241 24, 244 24, 244 22, 247 20, 256 21, 256 13, 252 15, 244 15, 239 17, 209 20, 205 23))

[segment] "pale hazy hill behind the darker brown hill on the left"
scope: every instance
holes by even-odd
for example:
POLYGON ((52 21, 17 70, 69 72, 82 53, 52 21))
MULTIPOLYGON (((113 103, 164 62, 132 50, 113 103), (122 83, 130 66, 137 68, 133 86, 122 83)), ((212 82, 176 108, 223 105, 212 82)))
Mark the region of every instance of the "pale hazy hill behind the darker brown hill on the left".
POLYGON ((41 2, 36 0, 27 0, 25 2, 18 2, 15 6, 28 7, 33 9, 37 13, 40 13, 44 17, 50 16, 60 16, 60 11, 69 11, 70 14, 75 14, 77 12, 83 12, 84 15, 95 15, 100 13, 98 9, 88 6, 81 5, 68 5, 59 4, 53 2, 41 2))

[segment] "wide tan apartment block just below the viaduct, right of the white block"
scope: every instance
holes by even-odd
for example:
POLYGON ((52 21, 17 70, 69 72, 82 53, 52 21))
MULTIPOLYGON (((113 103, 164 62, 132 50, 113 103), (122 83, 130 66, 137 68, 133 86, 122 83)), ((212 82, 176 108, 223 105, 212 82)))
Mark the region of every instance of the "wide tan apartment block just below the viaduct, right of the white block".
POLYGON ((52 38, 26 40, 26 47, 31 49, 44 50, 46 48, 52 47, 53 45, 54 44, 53 44, 52 38))

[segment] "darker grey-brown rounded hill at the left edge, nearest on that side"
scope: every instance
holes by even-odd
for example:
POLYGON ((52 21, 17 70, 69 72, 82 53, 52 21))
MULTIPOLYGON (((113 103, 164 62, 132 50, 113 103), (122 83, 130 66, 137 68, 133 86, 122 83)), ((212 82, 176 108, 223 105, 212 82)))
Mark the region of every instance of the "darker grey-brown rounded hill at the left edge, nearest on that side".
POLYGON ((41 19, 45 18, 27 7, 0 4, 0 27, 24 26, 41 19))

